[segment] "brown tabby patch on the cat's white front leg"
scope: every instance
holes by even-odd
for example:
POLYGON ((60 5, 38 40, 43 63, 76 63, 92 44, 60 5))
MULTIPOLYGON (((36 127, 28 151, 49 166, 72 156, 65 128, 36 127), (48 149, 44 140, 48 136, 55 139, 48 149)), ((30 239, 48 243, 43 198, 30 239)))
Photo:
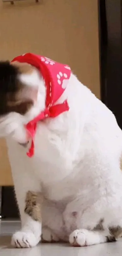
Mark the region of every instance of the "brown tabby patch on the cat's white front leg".
POLYGON ((25 213, 33 220, 41 222, 42 197, 39 193, 28 191, 25 199, 25 213))

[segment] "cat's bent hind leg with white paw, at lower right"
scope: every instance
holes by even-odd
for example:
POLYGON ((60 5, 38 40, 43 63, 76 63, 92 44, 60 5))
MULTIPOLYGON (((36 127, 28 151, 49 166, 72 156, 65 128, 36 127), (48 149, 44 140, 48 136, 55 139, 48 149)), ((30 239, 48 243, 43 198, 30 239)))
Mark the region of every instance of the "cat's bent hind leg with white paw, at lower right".
MULTIPOLYGON (((113 203, 114 200, 115 198, 113 197, 113 203)), ((66 229, 71 233, 69 236, 71 245, 88 246, 113 242, 122 236, 122 207, 118 206, 118 209, 111 208, 111 211, 104 211, 105 201, 104 198, 103 200, 101 198, 95 204, 82 211, 79 208, 82 205, 82 200, 79 199, 78 201, 68 204, 63 213, 66 229)))

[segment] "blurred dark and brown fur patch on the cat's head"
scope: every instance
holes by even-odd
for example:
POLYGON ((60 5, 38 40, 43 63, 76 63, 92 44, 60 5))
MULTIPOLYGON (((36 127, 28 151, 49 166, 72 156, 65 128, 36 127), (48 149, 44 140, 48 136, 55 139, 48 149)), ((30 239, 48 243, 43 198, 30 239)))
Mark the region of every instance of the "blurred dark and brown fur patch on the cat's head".
POLYGON ((0 116, 10 112, 24 115, 33 105, 29 86, 19 80, 19 75, 31 73, 27 63, 0 62, 0 116))

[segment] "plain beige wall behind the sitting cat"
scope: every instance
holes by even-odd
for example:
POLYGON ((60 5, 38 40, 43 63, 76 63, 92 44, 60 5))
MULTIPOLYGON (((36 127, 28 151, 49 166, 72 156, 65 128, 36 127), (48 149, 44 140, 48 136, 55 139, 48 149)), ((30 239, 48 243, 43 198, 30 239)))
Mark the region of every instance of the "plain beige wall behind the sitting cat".
MULTIPOLYGON (((97 0, 0 0, 0 59, 34 52, 67 63, 100 97, 97 0)), ((5 141, 0 142, 0 185, 12 183, 5 141)))

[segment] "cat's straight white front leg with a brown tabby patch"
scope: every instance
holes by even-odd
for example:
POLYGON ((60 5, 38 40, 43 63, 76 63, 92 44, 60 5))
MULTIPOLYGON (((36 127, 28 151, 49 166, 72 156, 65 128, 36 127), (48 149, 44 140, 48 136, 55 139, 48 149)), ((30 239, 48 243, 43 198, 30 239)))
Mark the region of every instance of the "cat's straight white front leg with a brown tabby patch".
MULTIPOLYGON (((17 171, 18 172, 18 171, 17 171)), ((39 182, 23 169, 13 175, 21 216, 21 230, 12 236, 17 248, 34 247, 41 240, 41 198, 39 182)))

